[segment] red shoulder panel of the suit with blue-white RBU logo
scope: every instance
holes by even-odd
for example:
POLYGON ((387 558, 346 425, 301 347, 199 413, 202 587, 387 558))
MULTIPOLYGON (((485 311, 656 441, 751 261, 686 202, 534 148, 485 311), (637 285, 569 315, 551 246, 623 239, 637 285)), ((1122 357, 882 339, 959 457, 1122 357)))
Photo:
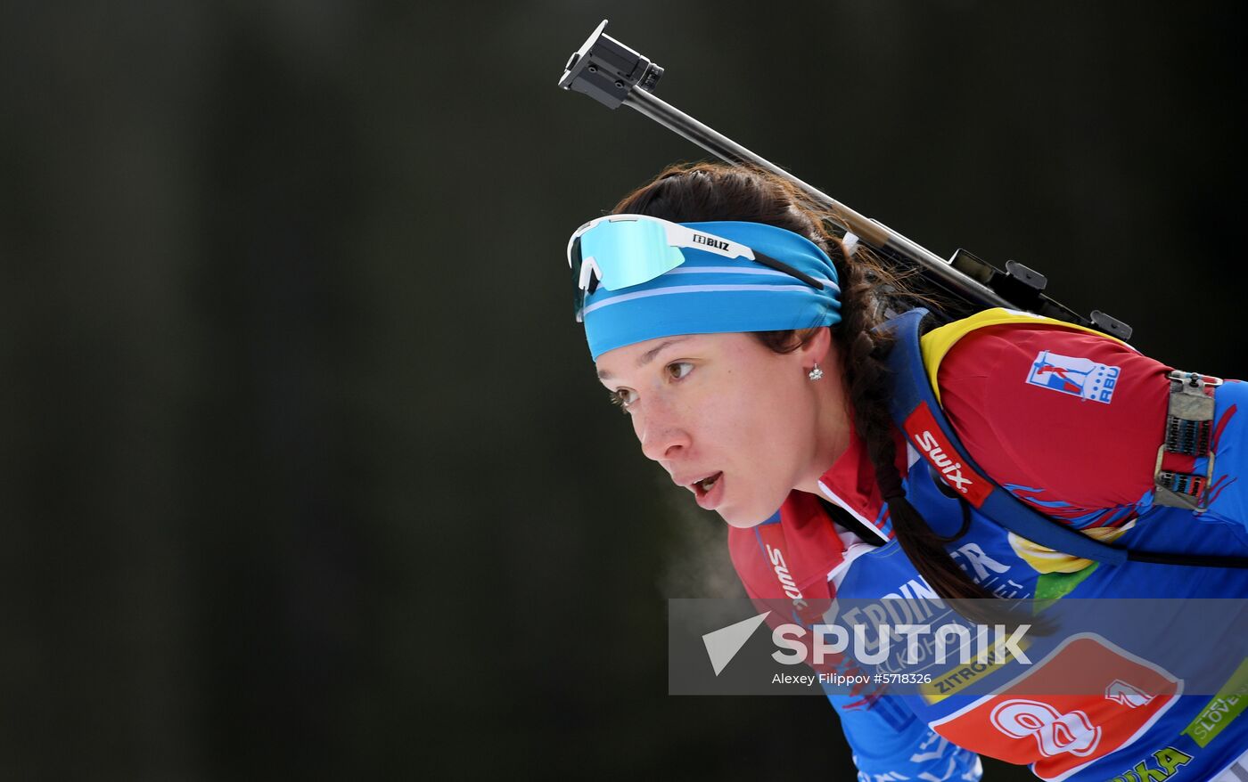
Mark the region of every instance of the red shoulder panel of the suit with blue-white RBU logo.
POLYGON ((998 484, 1072 526, 1122 524, 1152 489, 1169 367, 1045 324, 985 327, 937 373, 941 407, 998 484))

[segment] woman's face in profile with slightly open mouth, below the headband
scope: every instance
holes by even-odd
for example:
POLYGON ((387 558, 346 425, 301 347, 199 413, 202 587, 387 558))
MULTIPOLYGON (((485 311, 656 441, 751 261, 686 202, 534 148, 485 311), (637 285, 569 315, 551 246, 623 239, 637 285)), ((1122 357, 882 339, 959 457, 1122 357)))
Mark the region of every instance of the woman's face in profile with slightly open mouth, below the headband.
POLYGON ((817 491, 845 449, 837 373, 811 382, 816 360, 836 365, 826 328, 787 354, 750 334, 691 334, 609 350, 598 377, 631 417, 641 451, 700 506, 749 528, 790 490, 817 491))

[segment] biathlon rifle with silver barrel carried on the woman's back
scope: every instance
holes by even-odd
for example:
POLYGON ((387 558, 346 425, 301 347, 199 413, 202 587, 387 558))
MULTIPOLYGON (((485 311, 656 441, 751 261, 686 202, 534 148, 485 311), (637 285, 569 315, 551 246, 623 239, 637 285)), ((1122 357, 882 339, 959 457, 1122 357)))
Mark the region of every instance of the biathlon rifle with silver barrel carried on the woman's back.
POLYGON ((962 248, 946 261, 655 97, 654 87, 663 76, 663 69, 607 35, 605 29, 604 19, 580 49, 573 52, 559 79, 560 87, 584 92, 608 109, 617 109, 622 104, 629 106, 720 160, 733 165, 749 163, 787 180, 824 207, 839 234, 852 233, 899 268, 917 269, 925 282, 952 297, 955 309, 970 313, 990 307, 1007 307, 1096 328, 1123 340, 1131 338, 1129 326, 1099 309, 1093 309, 1085 318, 1045 296, 1048 279, 1040 272, 1016 261, 1006 261, 1002 271, 962 248))

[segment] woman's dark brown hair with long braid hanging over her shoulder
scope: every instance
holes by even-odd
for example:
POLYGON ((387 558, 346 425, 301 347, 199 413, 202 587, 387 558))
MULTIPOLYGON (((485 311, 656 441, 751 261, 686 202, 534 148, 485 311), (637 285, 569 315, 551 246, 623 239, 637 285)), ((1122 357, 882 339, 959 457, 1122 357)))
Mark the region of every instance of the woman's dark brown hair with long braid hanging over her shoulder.
MULTIPOLYGON (((875 465, 897 541, 941 597, 992 597, 958 567, 942 545, 950 539, 927 526, 901 488, 895 430, 889 413, 890 374, 884 362, 889 344, 874 329, 882 322, 886 304, 905 309, 915 299, 924 299, 907 289, 904 276, 895 273, 865 247, 860 246, 851 257, 831 231, 832 215, 821 211, 785 180, 756 168, 705 162, 669 166, 651 182, 625 196, 612 212, 649 215, 671 222, 734 220, 768 223, 800 233, 827 253, 841 286, 842 319, 832 327, 832 338, 840 348, 851 418, 875 465)), ((754 335, 776 353, 790 353, 816 332, 817 328, 811 328, 754 332, 754 335)))

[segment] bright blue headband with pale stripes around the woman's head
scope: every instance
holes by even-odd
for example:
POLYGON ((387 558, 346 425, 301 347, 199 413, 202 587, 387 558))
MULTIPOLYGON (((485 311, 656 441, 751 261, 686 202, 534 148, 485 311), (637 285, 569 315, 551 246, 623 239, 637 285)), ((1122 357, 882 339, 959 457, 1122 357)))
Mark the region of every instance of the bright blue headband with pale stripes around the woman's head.
POLYGON ((728 261, 681 248, 685 262, 650 282, 585 297, 585 338, 598 357, 636 342, 678 334, 771 332, 841 321, 836 268, 804 236, 753 222, 680 223, 763 252, 824 283, 820 291, 754 261, 728 261))

